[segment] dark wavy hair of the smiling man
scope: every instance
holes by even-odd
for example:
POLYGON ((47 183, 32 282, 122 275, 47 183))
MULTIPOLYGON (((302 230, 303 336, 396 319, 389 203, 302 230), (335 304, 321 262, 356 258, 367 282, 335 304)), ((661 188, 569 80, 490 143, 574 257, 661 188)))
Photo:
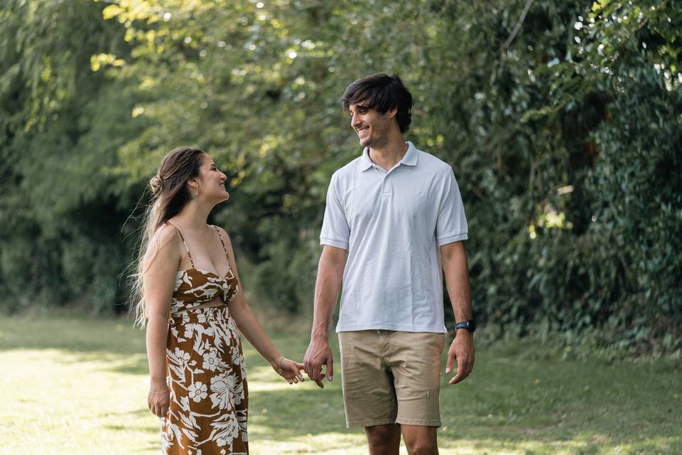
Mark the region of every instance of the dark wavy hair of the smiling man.
POLYGON ((379 73, 358 79, 347 87, 341 97, 345 112, 348 112, 351 105, 377 109, 381 114, 397 107, 396 120, 401 133, 410 127, 413 104, 410 91, 396 74, 389 76, 379 73))

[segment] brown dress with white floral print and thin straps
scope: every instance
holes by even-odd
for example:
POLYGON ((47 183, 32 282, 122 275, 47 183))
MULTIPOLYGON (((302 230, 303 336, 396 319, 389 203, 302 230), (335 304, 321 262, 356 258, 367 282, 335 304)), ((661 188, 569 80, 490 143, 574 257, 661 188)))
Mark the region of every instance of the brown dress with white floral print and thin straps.
POLYGON ((193 268, 178 271, 173 289, 166 343, 171 406, 161 418, 162 453, 245 455, 247 373, 237 324, 229 314, 229 303, 239 291, 237 277, 232 269, 224 277, 195 269, 178 233, 193 268), (225 304, 196 308, 215 296, 222 296, 225 304))

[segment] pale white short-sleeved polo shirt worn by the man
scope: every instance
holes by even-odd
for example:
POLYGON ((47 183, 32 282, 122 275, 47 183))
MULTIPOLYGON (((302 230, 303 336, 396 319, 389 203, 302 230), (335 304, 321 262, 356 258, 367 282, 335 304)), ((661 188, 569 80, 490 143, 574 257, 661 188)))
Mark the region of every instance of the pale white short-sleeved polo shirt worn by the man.
POLYGON ((320 243, 348 250, 337 332, 445 333, 438 247, 467 239, 453 169, 407 142, 386 172, 369 149, 332 175, 320 243))

